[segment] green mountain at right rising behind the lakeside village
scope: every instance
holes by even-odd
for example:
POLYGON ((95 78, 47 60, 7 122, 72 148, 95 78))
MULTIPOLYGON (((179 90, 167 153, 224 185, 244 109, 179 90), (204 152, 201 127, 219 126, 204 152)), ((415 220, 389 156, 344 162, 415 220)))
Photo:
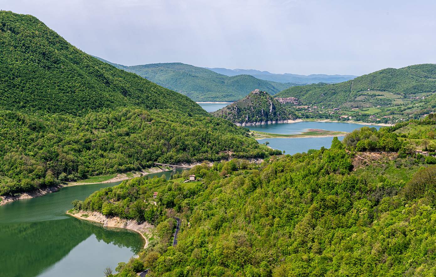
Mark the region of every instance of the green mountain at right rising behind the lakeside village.
POLYGON ((275 97, 296 97, 304 105, 335 108, 383 107, 407 102, 410 97, 428 97, 435 91, 436 65, 418 64, 379 70, 343 83, 291 87, 275 97))

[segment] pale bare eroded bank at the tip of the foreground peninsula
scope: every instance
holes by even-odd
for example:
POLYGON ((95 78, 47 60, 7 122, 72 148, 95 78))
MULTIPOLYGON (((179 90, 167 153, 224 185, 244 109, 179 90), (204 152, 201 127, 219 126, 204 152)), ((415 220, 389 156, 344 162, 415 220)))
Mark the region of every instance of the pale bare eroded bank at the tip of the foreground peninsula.
POLYGON ((123 228, 123 229, 129 229, 132 231, 135 231, 136 233, 140 234, 143 239, 145 240, 144 248, 148 246, 149 240, 144 236, 144 234, 150 234, 151 235, 151 229, 153 228, 153 225, 151 225, 148 222, 143 222, 141 224, 138 224, 136 220, 127 220, 119 217, 107 217, 99 212, 91 212, 91 211, 79 211, 75 214, 71 214, 68 211, 66 214, 71 215, 72 217, 82 219, 82 220, 88 220, 88 221, 94 221, 97 223, 103 224, 103 227, 116 227, 116 228, 123 228), (88 215, 87 217, 83 217, 83 215, 88 215))

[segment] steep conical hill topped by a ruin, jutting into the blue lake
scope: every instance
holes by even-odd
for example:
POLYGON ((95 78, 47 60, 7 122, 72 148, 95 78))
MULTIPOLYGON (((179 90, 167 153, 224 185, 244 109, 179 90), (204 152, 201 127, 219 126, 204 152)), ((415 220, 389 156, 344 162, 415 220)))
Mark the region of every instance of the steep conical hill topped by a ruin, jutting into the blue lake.
POLYGON ((290 115, 271 95, 254 90, 247 97, 213 113, 232 121, 238 126, 253 126, 270 123, 287 123, 290 115))

